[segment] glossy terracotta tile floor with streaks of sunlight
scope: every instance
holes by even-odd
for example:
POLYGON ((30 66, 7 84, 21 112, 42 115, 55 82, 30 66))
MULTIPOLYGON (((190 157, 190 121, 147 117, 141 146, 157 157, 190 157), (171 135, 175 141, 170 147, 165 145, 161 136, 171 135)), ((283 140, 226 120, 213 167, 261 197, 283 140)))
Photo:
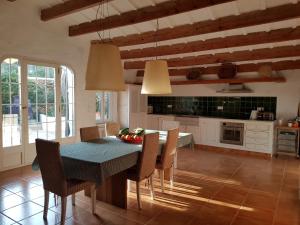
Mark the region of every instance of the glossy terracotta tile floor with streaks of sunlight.
MULTIPOLYGON (((164 194, 155 179, 156 198, 143 185, 142 210, 137 209, 132 183, 128 210, 70 199, 67 225, 298 225, 300 224, 300 162, 281 156, 266 160, 206 151, 179 151, 174 187, 164 194)), ((48 221, 42 219, 43 189, 39 172, 30 166, 0 173, 0 225, 57 224, 60 206, 50 198, 48 221)))

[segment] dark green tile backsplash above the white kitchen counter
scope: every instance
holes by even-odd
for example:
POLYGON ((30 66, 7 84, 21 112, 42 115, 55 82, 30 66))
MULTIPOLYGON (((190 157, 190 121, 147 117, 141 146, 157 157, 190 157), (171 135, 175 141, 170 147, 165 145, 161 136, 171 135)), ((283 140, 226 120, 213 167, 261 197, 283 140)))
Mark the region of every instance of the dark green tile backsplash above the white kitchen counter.
POLYGON ((276 118, 277 97, 148 97, 154 114, 197 115, 249 119, 257 107, 273 112, 276 118), (223 109, 221 109, 223 107, 223 109))

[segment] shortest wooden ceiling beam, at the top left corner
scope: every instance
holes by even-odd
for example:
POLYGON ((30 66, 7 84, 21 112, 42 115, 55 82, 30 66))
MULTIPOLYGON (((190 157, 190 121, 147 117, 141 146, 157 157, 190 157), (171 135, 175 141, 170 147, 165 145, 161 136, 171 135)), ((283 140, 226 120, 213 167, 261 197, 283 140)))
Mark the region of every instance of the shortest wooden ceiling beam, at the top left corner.
POLYGON ((111 0, 68 0, 52 7, 42 9, 41 20, 48 21, 69 15, 80 10, 91 8, 93 6, 105 3, 111 0))

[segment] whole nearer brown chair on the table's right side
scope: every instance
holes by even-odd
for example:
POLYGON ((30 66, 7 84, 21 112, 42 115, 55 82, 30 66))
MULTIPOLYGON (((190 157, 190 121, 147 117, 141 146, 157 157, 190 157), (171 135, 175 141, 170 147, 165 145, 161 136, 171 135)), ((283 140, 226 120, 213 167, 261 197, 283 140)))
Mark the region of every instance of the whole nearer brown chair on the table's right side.
POLYGON ((159 148, 159 133, 146 134, 143 141, 143 151, 139 155, 137 165, 127 172, 127 179, 136 182, 138 208, 141 209, 140 182, 150 179, 151 197, 154 198, 152 175, 155 170, 155 161, 159 148))

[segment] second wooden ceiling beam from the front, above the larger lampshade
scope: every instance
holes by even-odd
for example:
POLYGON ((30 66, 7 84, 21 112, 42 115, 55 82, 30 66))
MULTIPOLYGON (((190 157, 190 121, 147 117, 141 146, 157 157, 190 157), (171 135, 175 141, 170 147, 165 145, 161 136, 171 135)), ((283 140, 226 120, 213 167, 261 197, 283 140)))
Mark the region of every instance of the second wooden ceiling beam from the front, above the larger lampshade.
POLYGON ((91 22, 85 22, 69 27, 69 35, 76 36, 117 28, 121 26, 132 25, 146 22, 149 20, 159 19, 162 17, 172 16, 196 9, 202 9, 221 3, 231 2, 234 0, 172 0, 159 3, 155 6, 147 6, 141 9, 122 13, 121 15, 110 16, 105 19, 97 19, 91 22))

